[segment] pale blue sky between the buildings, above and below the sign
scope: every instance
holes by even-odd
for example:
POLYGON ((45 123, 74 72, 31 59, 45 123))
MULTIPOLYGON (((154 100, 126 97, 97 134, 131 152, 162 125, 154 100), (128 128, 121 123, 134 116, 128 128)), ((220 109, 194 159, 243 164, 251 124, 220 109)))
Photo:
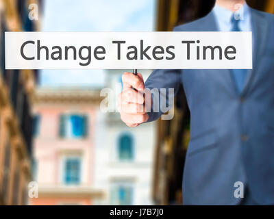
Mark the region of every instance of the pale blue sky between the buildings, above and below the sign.
MULTIPOLYGON (((157 0, 45 0, 41 31, 153 31, 157 0)), ((101 88, 105 70, 41 70, 40 86, 101 88)))

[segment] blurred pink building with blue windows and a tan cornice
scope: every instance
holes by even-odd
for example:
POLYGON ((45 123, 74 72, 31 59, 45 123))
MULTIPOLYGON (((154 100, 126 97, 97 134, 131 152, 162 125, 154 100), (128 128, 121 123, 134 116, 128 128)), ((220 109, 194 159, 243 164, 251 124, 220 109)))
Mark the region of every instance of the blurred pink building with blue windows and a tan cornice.
POLYGON ((101 198, 95 182, 98 90, 36 90, 32 205, 92 205, 101 198))

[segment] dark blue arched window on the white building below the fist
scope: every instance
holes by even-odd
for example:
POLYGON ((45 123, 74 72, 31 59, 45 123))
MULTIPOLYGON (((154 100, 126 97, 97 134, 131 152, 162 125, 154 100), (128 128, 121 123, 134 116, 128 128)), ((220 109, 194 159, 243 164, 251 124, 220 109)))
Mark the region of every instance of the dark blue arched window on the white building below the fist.
POLYGON ((129 133, 119 136, 118 150, 121 161, 130 161, 134 158, 133 140, 129 133))

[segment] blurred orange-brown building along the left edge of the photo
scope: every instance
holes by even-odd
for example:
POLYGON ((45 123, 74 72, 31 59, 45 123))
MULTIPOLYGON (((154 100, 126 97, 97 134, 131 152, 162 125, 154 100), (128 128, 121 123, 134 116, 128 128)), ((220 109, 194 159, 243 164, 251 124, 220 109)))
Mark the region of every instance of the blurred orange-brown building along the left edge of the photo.
POLYGON ((32 180, 32 100, 34 70, 5 70, 4 31, 34 31, 29 4, 38 1, 0 0, 0 205, 27 204, 32 180))

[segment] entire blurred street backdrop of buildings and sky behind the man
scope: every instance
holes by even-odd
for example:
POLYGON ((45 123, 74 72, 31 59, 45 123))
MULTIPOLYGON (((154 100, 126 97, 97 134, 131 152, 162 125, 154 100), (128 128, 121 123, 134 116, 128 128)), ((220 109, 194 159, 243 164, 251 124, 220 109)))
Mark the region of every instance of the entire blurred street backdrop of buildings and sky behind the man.
MULTIPOLYGON (((7 70, 4 36, 172 31, 208 14, 214 2, 0 0, 0 205, 182 205, 190 140, 182 86, 173 120, 132 129, 115 112, 125 70, 7 70), (106 97, 113 104, 104 112, 106 97)), ((248 1, 269 13, 273 2, 248 1)), ((146 80, 152 70, 138 72, 146 80)))

